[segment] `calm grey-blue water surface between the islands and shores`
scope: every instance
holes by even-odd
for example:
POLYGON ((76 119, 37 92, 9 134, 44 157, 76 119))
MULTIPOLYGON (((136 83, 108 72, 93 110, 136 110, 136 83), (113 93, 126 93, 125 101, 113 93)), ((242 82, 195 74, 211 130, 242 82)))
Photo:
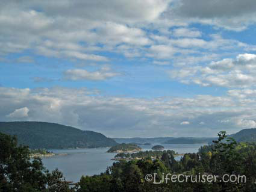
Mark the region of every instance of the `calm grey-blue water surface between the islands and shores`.
MULTIPOLYGON (((198 152, 203 144, 162 144, 165 150, 175 150, 178 153, 198 152)), ((152 146, 141 146, 143 150, 151 150, 152 146)), ((67 181, 77 182, 82 175, 95 175, 105 172, 114 161, 111 158, 116 153, 107 153, 109 148, 97 149, 52 149, 54 153, 67 153, 68 155, 56 155, 45 157, 43 164, 49 170, 58 168, 64 173, 67 181)), ((177 157, 176 159, 179 159, 177 157)))

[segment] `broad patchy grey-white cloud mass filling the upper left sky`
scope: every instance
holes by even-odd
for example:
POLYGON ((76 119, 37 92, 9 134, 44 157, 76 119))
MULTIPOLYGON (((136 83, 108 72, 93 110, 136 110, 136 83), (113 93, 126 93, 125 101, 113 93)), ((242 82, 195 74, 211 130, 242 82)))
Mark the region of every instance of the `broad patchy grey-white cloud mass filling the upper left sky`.
POLYGON ((1 1, 0 54, 30 49, 46 57, 107 61, 99 51, 114 51, 120 43, 137 46, 151 43, 136 23, 154 22, 168 4, 166 0, 54 4, 1 1))

